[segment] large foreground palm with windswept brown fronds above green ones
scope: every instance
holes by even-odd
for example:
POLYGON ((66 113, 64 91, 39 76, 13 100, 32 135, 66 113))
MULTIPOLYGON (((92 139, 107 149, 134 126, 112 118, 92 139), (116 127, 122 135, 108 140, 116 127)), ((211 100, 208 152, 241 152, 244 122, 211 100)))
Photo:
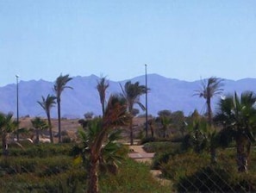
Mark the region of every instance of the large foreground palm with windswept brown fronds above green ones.
POLYGON ((98 192, 97 171, 99 165, 108 166, 110 171, 116 173, 116 153, 120 145, 116 144, 114 128, 127 125, 129 114, 125 98, 119 95, 109 97, 103 118, 90 121, 86 130, 80 131, 80 139, 84 143, 84 157, 87 161, 89 180, 88 193, 98 192), (103 146, 104 144, 104 146, 103 146), (113 170, 114 169, 114 170, 113 170))

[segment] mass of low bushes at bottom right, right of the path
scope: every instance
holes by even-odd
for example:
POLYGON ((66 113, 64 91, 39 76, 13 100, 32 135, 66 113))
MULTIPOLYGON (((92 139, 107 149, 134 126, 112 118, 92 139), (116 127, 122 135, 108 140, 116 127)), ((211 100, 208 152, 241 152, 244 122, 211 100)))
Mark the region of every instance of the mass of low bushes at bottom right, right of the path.
POLYGON ((172 180, 178 192, 255 192, 254 157, 249 173, 245 174, 237 171, 234 148, 218 151, 214 165, 210 163, 209 153, 191 151, 172 154, 159 167, 163 176, 172 180))

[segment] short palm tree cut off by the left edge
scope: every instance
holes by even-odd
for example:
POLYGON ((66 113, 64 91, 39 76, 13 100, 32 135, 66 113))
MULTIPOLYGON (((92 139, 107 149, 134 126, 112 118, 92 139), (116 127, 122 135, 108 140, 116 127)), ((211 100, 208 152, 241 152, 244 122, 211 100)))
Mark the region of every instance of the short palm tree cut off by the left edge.
POLYGON ((0 113, 0 135, 2 137, 3 155, 8 155, 7 135, 15 129, 12 113, 0 113))

